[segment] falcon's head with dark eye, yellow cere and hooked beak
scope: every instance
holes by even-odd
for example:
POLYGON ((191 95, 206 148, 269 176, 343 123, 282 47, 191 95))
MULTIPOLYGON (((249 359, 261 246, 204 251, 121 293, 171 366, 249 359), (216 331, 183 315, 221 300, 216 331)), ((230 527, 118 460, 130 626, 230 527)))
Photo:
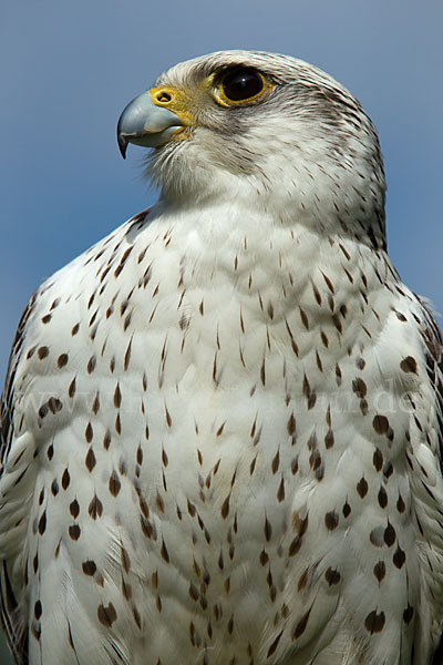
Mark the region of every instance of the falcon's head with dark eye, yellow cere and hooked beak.
POLYGON ((287 55, 222 51, 179 63, 123 111, 117 140, 152 147, 166 200, 259 206, 384 246, 384 174, 360 103, 287 55))

